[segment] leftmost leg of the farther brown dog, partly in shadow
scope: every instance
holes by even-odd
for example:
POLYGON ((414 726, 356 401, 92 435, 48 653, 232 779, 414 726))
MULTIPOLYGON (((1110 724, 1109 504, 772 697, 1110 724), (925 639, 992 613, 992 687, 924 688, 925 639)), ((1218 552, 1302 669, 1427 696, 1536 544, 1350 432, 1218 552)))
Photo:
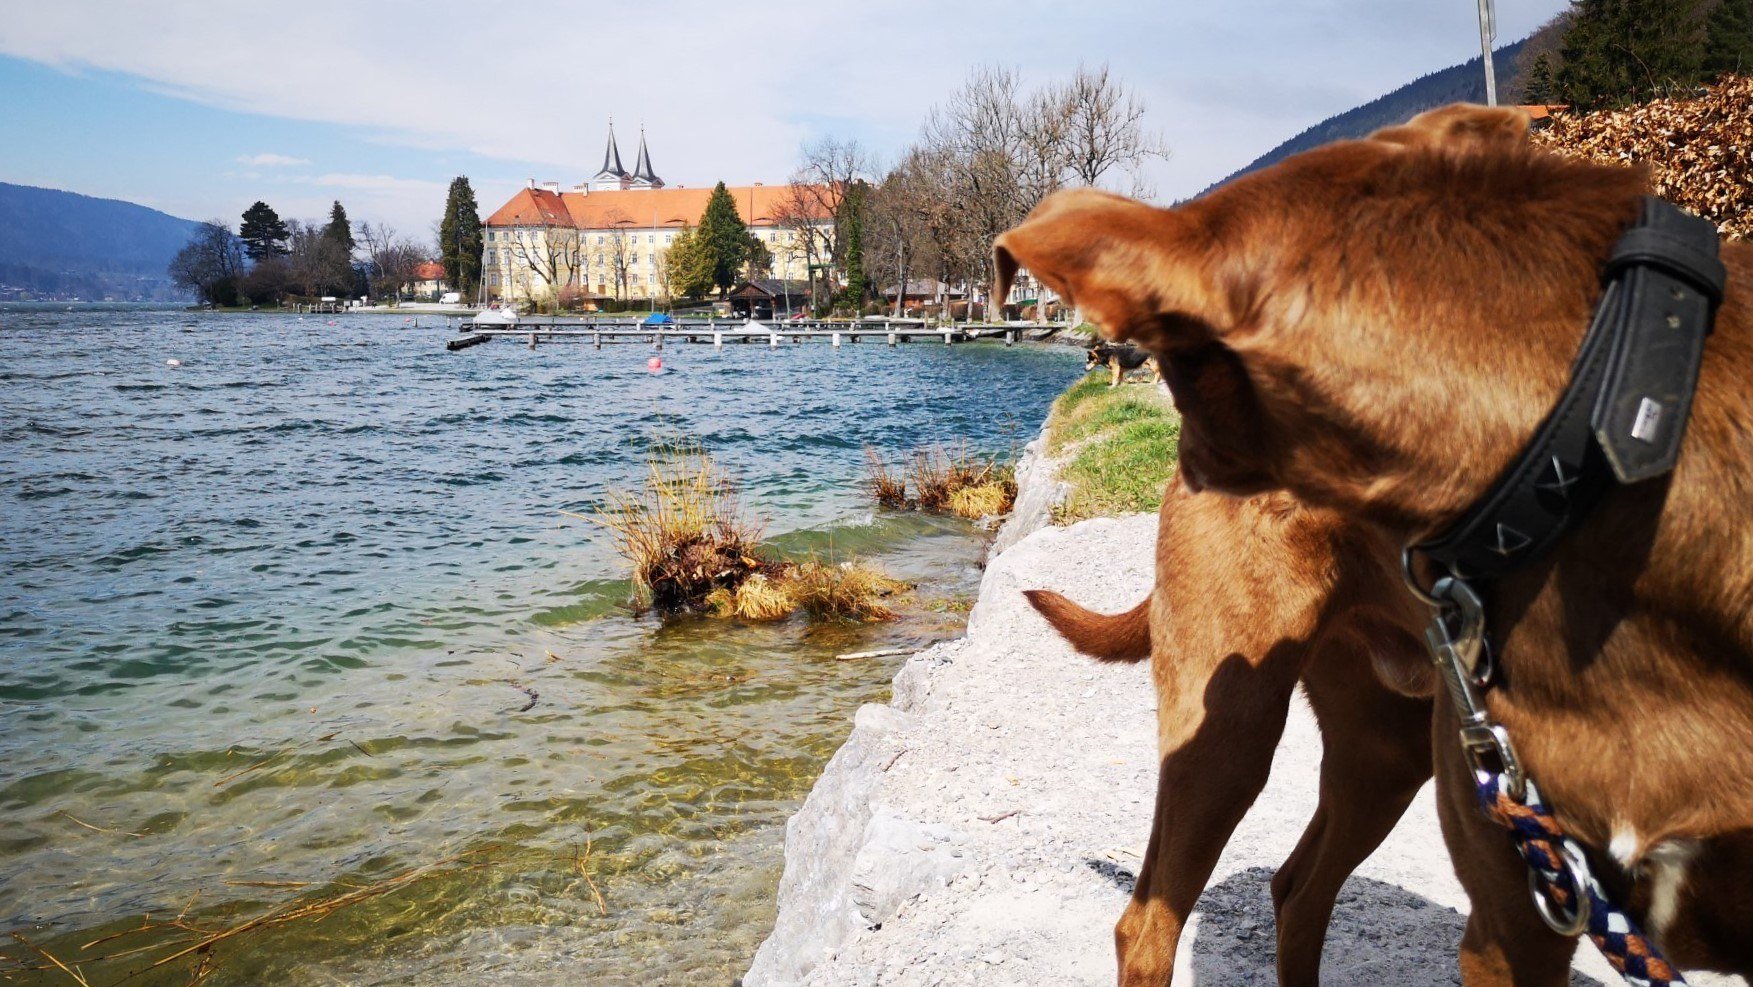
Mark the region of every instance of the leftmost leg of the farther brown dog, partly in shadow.
POLYGON ((1162 768, 1138 889, 1113 931, 1122 985, 1159 987, 1175 975, 1187 917, 1266 785, 1301 652, 1281 643, 1255 664, 1227 649, 1217 661, 1153 657, 1162 768))

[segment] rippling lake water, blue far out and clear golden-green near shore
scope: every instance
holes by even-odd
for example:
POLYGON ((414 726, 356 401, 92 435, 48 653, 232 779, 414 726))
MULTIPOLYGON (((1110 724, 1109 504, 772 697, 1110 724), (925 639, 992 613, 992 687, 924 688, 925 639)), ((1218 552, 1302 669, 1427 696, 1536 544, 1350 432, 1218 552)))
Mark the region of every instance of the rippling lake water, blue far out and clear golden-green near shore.
POLYGON ((0 310, 0 931, 79 957, 145 913, 219 924, 484 850, 242 936, 205 982, 729 982, 785 815, 892 673, 833 656, 959 615, 636 621, 557 510, 685 435, 782 549, 966 596, 980 536, 873 515, 861 449, 1008 451, 1075 354, 682 345, 654 377, 643 345, 447 354, 326 321, 0 310))

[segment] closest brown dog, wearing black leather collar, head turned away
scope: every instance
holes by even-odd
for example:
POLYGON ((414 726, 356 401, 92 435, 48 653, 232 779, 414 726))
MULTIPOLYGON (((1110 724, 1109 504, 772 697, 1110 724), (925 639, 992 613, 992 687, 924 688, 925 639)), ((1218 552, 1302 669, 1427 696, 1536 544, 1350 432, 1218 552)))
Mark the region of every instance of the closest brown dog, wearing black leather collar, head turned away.
MULTIPOLYGON (((1525 146, 1515 110, 1450 107, 1176 210, 1061 193, 997 242, 1113 338, 1155 352, 1182 477, 1288 491, 1367 524, 1387 566, 1443 531, 1569 380, 1641 172, 1525 146)), ((1490 714, 1595 873, 1681 966, 1753 973, 1753 251, 1728 291, 1671 475, 1608 491, 1492 587, 1490 714)), ((1408 668, 1408 677, 1416 675, 1408 668)), ((1462 973, 1562 983, 1504 833, 1434 717, 1444 836, 1473 899, 1462 973)))

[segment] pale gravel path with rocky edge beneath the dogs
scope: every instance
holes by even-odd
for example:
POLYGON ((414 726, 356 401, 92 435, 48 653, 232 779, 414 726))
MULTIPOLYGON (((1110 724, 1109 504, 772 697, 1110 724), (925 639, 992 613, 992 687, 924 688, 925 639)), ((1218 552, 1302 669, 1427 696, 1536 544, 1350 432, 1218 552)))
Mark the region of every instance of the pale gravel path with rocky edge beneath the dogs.
MULTIPOLYGON (((747 987, 1113 983, 1111 929, 1150 831, 1146 666, 1075 656, 1022 598, 1101 610, 1148 591, 1155 517, 1052 528, 1062 487, 1036 440, 968 633, 906 661, 785 826, 778 919, 747 987)), ((1273 778, 1236 829, 1176 962, 1178 983, 1276 983, 1267 882, 1315 810, 1320 733, 1301 696, 1273 778)), ((1466 896, 1430 789, 1346 884, 1332 983, 1458 983, 1466 896)), ((1585 943, 1572 983, 1616 983, 1585 943)), ((1741 983, 1699 978, 1693 983, 1741 983)))

